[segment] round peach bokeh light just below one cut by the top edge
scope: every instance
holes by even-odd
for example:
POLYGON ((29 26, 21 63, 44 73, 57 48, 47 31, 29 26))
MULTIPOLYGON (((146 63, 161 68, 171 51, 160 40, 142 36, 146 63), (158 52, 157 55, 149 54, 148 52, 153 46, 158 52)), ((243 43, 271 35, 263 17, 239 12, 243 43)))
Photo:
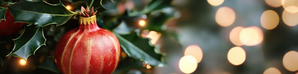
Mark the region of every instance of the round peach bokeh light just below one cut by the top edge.
POLYGON ((222 27, 228 27, 235 21, 236 14, 230 7, 220 7, 215 14, 215 21, 222 27))

